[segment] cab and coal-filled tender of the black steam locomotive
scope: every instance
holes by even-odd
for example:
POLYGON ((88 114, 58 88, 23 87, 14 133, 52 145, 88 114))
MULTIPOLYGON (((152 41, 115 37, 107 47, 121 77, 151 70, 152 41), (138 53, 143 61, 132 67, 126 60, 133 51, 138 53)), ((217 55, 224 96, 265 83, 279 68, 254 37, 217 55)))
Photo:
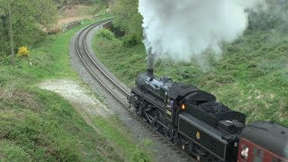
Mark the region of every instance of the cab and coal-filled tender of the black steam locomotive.
POLYGON ((217 103, 214 95, 195 86, 173 85, 168 95, 178 102, 177 109, 180 111, 175 123, 183 139, 183 148, 195 157, 235 161, 238 133, 246 121, 243 113, 217 103))

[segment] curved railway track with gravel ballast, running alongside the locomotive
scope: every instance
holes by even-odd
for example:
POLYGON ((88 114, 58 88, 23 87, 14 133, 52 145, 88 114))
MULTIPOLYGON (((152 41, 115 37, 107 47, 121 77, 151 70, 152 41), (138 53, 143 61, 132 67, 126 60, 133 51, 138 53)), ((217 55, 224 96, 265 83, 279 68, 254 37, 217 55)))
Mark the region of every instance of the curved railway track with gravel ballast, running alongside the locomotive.
POLYGON ((99 85, 103 86, 103 89, 110 95, 111 99, 121 104, 123 110, 128 112, 130 118, 136 119, 135 121, 139 122, 139 125, 147 128, 148 131, 152 132, 153 137, 150 137, 151 139, 160 141, 166 148, 170 149, 171 152, 180 155, 181 159, 179 159, 179 161, 196 161, 193 157, 188 156, 181 148, 176 147, 172 142, 168 141, 163 134, 157 130, 154 130, 151 125, 136 115, 133 108, 130 108, 129 103, 127 102, 127 97, 130 97, 130 92, 127 89, 125 90, 125 88, 122 87, 121 84, 116 80, 114 80, 112 76, 109 76, 105 69, 99 65, 99 62, 95 60, 94 56, 89 53, 86 44, 87 35, 94 28, 110 21, 112 21, 112 19, 94 23, 79 32, 79 34, 76 36, 75 42, 77 56, 81 59, 86 70, 91 74, 91 76, 94 77, 94 80, 98 82, 99 85))

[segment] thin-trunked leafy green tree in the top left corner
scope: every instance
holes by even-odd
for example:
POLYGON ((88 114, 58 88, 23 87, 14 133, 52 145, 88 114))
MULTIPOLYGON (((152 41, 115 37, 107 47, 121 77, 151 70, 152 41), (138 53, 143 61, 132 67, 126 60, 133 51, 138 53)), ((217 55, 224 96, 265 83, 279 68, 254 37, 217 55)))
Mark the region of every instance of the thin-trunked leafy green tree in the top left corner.
MULTIPOLYGON (((0 34, 4 35, 3 39, 9 37, 13 66, 14 46, 28 44, 36 39, 41 28, 56 20, 56 11, 52 0, 0 0, 0 14, 4 17, 0 34), (8 26, 5 25, 6 22, 9 23, 8 26), (5 37, 7 28, 9 36, 5 37)), ((0 40, 0 43, 3 41, 5 40, 0 40)))

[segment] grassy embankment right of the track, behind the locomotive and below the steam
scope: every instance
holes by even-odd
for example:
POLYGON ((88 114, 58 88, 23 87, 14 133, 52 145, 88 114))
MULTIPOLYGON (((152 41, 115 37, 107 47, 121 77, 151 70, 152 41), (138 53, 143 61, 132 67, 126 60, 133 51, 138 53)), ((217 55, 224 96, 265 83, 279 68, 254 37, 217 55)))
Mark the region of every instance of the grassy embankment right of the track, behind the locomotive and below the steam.
MULTIPOLYGON (((288 35, 287 26, 274 30, 248 29, 232 44, 223 47, 222 58, 209 55, 210 68, 203 72, 196 60, 173 63, 161 60, 157 76, 197 85, 215 94, 218 101, 247 114, 247 121, 271 120, 288 126, 288 35)), ((143 44, 124 46, 123 39, 102 31, 94 38, 94 51, 126 85, 147 68, 143 44)))

